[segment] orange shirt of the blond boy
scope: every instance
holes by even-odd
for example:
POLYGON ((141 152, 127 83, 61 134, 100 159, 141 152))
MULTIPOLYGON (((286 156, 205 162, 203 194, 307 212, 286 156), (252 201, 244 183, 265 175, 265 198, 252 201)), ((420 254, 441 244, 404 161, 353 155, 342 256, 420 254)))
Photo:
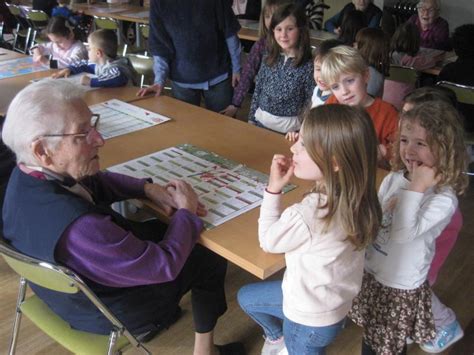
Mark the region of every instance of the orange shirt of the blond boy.
MULTIPOLYGON (((327 99, 326 104, 337 104, 338 101, 334 95, 327 99)), ((391 104, 376 97, 374 102, 365 110, 372 118, 375 132, 380 144, 383 144, 388 152, 391 152, 393 143, 398 130, 398 112, 391 104)), ((389 155, 391 156, 391 154, 389 155)))

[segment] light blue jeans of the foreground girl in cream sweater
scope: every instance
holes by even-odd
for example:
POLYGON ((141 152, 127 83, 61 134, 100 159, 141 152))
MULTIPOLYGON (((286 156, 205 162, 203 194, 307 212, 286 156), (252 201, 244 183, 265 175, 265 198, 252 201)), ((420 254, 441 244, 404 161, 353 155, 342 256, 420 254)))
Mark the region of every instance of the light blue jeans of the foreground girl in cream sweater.
POLYGON ((246 285, 239 290, 237 299, 244 312, 263 328, 268 339, 285 337, 290 355, 324 354, 344 325, 344 319, 326 327, 311 327, 286 318, 281 281, 246 285))

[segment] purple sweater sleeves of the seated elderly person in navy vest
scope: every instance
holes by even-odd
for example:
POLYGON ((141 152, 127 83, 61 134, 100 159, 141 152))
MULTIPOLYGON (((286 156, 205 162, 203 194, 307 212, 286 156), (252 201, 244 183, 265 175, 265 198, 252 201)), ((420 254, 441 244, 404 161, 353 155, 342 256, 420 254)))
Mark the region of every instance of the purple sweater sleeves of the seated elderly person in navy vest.
MULTIPOLYGON (((145 179, 99 173, 102 201, 144 198, 145 179)), ((140 240, 115 224, 110 216, 83 215, 59 240, 55 256, 77 273, 111 287, 131 287, 172 281, 181 271, 200 236, 203 223, 186 209, 171 218, 159 243, 140 240)))

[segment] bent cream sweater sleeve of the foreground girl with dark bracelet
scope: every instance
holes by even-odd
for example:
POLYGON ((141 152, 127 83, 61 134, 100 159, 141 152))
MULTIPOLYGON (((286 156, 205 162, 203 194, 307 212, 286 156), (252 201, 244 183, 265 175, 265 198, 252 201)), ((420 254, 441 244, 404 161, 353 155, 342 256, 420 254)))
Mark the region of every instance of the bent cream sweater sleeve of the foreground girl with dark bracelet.
POLYGON ((281 195, 264 193, 258 219, 260 247, 270 253, 287 253, 311 246, 311 231, 292 207, 280 212, 281 195))

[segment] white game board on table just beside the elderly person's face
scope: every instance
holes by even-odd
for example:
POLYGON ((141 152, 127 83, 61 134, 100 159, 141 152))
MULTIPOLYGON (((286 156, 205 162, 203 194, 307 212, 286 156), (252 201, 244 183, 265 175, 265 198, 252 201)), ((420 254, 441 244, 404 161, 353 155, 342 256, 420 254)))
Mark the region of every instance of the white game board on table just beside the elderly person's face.
POLYGON ((121 136, 169 121, 170 118, 113 99, 89 107, 100 114, 99 133, 104 139, 121 136))

